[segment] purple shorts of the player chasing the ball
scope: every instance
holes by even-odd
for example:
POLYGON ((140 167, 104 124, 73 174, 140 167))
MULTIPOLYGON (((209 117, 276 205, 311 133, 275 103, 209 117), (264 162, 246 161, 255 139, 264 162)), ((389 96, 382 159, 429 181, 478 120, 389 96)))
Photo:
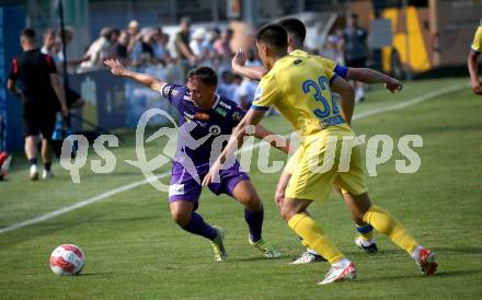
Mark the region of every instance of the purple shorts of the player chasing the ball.
MULTIPOLYGON (((187 200, 194 203, 194 209, 197 208, 197 201, 200 195, 200 182, 209 171, 209 165, 196 168, 198 181, 190 174, 180 163, 173 163, 171 172, 171 183, 169 187, 169 203, 177 200, 187 200)), ((232 192, 238 183, 249 181, 250 177, 242 170, 238 161, 228 170, 219 171, 219 183, 211 183, 208 185, 209 189, 216 194, 227 194, 232 197, 232 192)))

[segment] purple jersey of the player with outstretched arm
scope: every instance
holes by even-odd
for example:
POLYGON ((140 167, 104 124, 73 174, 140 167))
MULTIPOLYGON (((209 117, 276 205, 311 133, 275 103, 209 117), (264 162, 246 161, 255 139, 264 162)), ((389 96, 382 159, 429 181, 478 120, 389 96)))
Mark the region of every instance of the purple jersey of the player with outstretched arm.
MULTIPOLYGON (((176 163, 185 165, 186 161, 192 161, 197 169, 208 164, 216 137, 230 136, 245 114, 236 102, 219 95, 216 95, 213 108, 202 109, 193 103, 190 90, 185 85, 164 84, 161 94, 180 113, 174 165, 176 163)), ((216 155, 213 158, 214 161, 220 151, 215 151, 213 154, 216 155)))

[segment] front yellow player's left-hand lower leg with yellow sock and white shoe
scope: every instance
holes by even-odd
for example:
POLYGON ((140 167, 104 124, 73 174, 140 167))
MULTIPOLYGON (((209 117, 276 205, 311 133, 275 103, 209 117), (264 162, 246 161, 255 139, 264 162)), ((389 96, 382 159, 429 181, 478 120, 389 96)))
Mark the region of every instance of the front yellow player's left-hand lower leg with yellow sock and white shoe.
POLYGON ((285 198, 282 217, 306 243, 325 257, 332 265, 320 285, 343 281, 356 277, 355 265, 333 244, 317 222, 307 215, 312 200, 285 198))

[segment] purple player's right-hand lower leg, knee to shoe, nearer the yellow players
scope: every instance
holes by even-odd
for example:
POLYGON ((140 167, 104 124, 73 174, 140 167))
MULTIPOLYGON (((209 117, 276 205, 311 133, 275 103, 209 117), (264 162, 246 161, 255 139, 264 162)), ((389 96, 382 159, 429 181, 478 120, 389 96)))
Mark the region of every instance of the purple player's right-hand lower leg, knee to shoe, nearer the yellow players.
POLYGON ((232 191, 232 196, 244 206, 244 220, 250 229, 250 244, 268 258, 279 257, 282 255, 279 251, 262 238, 264 209, 252 183, 250 181, 239 182, 232 191))

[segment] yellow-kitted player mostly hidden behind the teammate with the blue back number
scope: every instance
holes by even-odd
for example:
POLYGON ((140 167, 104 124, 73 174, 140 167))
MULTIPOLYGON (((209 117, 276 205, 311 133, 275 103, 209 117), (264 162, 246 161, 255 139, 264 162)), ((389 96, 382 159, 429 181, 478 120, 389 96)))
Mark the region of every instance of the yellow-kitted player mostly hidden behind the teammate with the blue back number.
MULTIPOLYGON (((346 80, 356 80, 362 81, 365 83, 385 83, 385 86, 392 93, 400 91, 403 85, 402 83, 391 78, 387 74, 383 74, 381 72, 378 72, 372 69, 368 68, 346 68, 343 66, 340 66, 335 61, 321 57, 321 56, 313 56, 309 55, 303 50, 303 44, 305 44, 305 37, 307 35, 307 30, 305 27, 305 24, 296 19, 296 18, 287 18, 283 19, 278 22, 288 33, 288 53, 296 56, 303 56, 309 57, 312 59, 315 59, 322 64, 322 66, 329 70, 332 70, 337 76, 342 77, 346 80)), ((261 78, 266 73, 266 69, 264 67, 253 67, 253 66, 245 66, 245 55, 243 53, 243 49, 239 50, 236 55, 236 57, 232 60, 232 68, 236 72, 243 74, 250 79, 254 80, 261 80, 261 78)), ((299 154, 296 153, 295 157, 299 154)), ((285 168, 285 170, 282 172, 282 175, 279 176, 279 182, 276 187, 276 195, 275 199, 278 204, 278 207, 280 207, 283 199, 285 197, 285 189, 288 185, 288 182, 291 177, 291 174, 294 172, 294 168, 297 165, 297 162, 295 159, 289 161, 289 164, 285 168)), ((343 194, 340 188, 335 186, 335 189, 342 195, 345 203, 349 205, 354 199, 351 198, 348 194, 343 194)), ((355 244, 359 247, 365 250, 367 253, 375 253, 378 251, 374 234, 372 234, 372 227, 370 224, 367 224, 363 222, 363 220, 357 220, 354 218, 355 227, 358 232, 358 236, 355 239, 355 244)), ((303 243, 305 244, 305 243, 303 243)), ((307 246, 305 244, 305 246, 307 246)), ((291 264, 309 264, 309 263, 315 263, 324 261, 319 253, 317 253, 314 250, 307 247, 307 250, 291 264)))

